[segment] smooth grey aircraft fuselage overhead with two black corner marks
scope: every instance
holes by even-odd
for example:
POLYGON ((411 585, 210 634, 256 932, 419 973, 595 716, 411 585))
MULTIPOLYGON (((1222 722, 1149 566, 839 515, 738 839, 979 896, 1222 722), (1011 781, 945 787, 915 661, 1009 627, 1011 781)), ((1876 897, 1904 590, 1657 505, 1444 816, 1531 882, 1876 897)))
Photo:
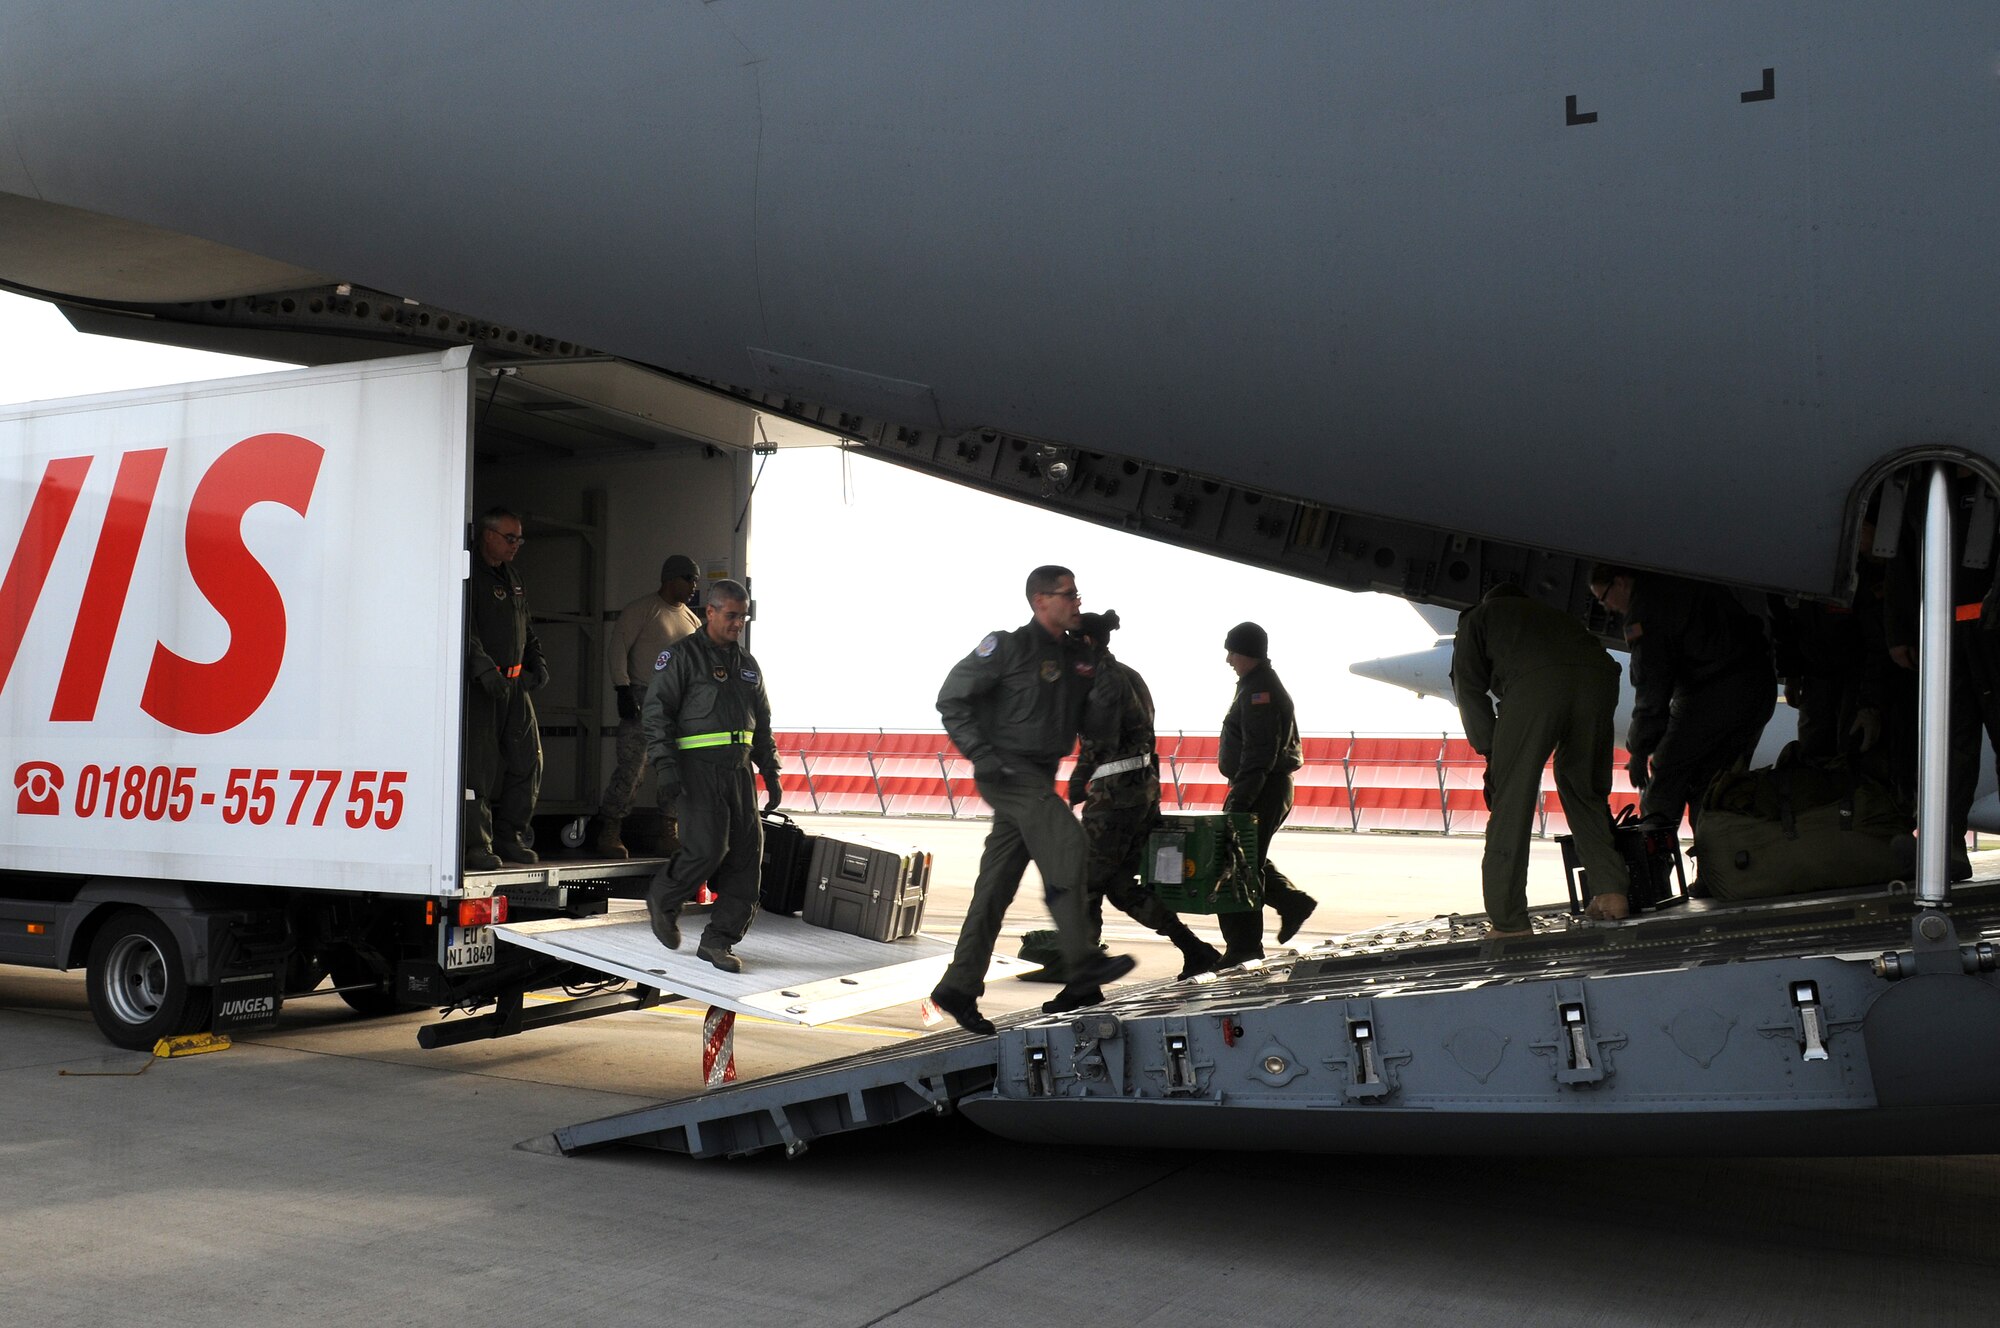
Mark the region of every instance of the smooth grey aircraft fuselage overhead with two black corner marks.
POLYGON ((0 190, 900 424, 1836 592, 1870 464, 2000 460, 1996 48, 1970 0, 30 4, 0 190))

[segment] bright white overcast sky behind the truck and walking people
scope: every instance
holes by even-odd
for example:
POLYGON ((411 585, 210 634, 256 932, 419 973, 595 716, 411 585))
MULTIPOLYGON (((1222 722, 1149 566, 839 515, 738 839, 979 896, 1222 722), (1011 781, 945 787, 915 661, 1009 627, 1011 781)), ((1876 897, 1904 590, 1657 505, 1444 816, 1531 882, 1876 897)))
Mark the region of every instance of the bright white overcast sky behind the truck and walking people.
MULTIPOLYGON (((80 336, 48 304, 0 294, 0 404, 270 368, 80 336)), ((0 532, 12 550, 18 532, 0 532)), ((1392 596, 1348 594, 990 498, 834 450, 770 458, 752 510, 754 646, 782 728, 934 728, 944 672, 1028 620, 1022 580, 1076 570, 1086 610, 1116 608, 1112 650, 1152 686, 1162 730, 1220 726, 1230 624, 1270 654, 1310 732, 1458 732, 1440 700, 1348 672, 1434 634, 1392 596)), ((612 596, 618 598, 616 594, 612 596)))

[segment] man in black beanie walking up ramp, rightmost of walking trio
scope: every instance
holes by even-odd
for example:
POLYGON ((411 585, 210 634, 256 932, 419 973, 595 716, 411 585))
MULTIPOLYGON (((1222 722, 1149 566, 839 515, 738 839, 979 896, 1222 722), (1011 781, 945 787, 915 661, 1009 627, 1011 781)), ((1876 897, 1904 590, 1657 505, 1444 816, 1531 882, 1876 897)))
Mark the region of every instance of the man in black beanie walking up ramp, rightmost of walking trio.
MULTIPOLYGON (((1284 818, 1292 814, 1292 772, 1304 762, 1298 754, 1298 716, 1292 696, 1270 666, 1270 638, 1254 622, 1238 622, 1222 638, 1230 668, 1236 670, 1236 696, 1222 718, 1222 744, 1216 766, 1230 782, 1224 812, 1256 816, 1258 856, 1264 870, 1264 908, 1278 910, 1278 944, 1298 936, 1306 918, 1320 906, 1316 898, 1294 886, 1270 862, 1270 842, 1284 818)), ((1228 950, 1226 966, 1264 958, 1264 912, 1218 914, 1228 950)))

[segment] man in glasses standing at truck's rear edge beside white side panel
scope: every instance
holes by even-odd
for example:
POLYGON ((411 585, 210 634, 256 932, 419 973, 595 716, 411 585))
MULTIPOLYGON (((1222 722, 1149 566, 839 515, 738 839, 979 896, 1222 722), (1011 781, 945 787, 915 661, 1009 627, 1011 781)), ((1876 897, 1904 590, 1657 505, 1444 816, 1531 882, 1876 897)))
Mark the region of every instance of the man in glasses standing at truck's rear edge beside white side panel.
POLYGON ((498 870, 502 858, 536 860, 526 832, 542 786, 542 730, 528 694, 548 682, 548 662, 514 572, 524 542, 518 516, 488 508, 466 578, 466 868, 474 872, 498 870))

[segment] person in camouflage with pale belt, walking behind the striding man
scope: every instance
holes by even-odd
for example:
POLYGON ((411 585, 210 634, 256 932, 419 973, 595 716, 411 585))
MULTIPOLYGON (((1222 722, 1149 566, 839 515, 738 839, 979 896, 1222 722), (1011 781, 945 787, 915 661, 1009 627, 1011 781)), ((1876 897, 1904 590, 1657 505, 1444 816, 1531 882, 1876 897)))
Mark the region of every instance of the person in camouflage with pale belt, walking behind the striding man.
MULTIPOLYGON (((1098 650, 1098 674, 1084 706, 1084 746, 1070 774, 1070 802, 1084 804, 1084 838, 1090 842, 1090 924, 1096 936, 1108 898, 1140 926, 1174 942, 1182 978, 1222 966, 1222 952, 1188 930, 1152 890, 1138 884, 1146 836, 1160 824, 1160 758, 1154 754, 1152 690, 1134 668, 1112 658, 1110 634, 1118 614, 1084 614, 1078 636, 1098 650)), ((1050 1014, 1094 1006, 1098 986, 1066 986, 1044 1004, 1050 1014)))

